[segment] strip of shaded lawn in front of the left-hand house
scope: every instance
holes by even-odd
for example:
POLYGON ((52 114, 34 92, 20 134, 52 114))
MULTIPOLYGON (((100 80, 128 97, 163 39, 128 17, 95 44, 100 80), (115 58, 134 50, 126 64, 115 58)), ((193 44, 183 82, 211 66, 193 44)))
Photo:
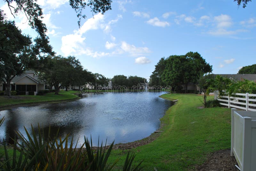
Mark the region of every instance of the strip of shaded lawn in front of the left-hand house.
POLYGON ((53 101, 63 101, 63 100, 74 100, 78 98, 72 93, 78 93, 79 91, 60 91, 59 95, 54 95, 54 93, 47 93, 42 96, 30 96, 30 95, 19 95, 13 97, 0 96, 0 108, 10 105, 19 104, 32 104, 40 102, 53 102, 53 101))

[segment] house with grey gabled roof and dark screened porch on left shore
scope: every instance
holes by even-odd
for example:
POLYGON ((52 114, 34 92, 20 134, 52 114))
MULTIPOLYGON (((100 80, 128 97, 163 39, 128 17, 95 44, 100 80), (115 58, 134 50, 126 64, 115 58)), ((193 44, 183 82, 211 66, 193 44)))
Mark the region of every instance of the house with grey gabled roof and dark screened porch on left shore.
MULTIPOLYGON (((5 91, 6 85, 4 82, 0 82, 0 91, 5 91)), ((28 95, 29 91, 34 91, 35 95, 40 90, 44 90, 45 85, 35 75, 35 71, 28 70, 23 74, 15 76, 11 81, 11 91, 18 90, 19 92, 26 92, 28 95)))

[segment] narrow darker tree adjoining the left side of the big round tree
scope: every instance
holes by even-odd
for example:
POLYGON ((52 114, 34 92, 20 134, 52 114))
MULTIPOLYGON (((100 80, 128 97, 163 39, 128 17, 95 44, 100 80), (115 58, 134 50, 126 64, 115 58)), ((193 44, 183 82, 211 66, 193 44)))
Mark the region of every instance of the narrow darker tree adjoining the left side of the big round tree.
POLYGON ((165 86, 164 82, 162 81, 162 74, 164 72, 165 68, 165 62, 166 60, 164 57, 162 57, 159 62, 155 65, 155 70, 152 72, 152 75, 150 76, 151 79, 151 84, 150 85, 155 85, 155 86, 165 86))

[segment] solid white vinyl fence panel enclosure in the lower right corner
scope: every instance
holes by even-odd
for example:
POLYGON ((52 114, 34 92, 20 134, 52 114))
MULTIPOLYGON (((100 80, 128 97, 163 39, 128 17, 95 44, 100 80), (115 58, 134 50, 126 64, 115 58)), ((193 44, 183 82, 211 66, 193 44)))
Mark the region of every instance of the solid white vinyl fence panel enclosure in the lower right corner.
POLYGON ((256 112, 231 109, 231 156, 239 170, 256 170, 256 112))

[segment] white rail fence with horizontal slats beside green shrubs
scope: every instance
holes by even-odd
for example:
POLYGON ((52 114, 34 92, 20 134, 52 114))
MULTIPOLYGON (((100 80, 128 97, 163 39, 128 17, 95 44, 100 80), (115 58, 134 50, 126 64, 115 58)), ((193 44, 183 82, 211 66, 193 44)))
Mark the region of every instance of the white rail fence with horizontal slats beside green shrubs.
POLYGON ((238 109, 243 109, 246 111, 256 111, 256 109, 250 108, 251 107, 256 107, 256 104, 252 104, 250 102, 256 101, 256 99, 252 99, 252 97, 256 97, 256 94, 249 94, 249 93, 233 93, 232 95, 237 95, 239 97, 232 97, 232 96, 222 96, 221 98, 225 99, 220 99, 218 98, 218 91, 214 91, 214 99, 219 100, 220 104, 223 106, 228 106, 228 108, 233 107, 233 108, 238 108, 238 109), (243 100, 245 102, 239 102, 238 100, 243 100), (226 103, 223 103, 226 102, 226 103), (243 106, 237 106, 236 104, 243 105, 243 106))

